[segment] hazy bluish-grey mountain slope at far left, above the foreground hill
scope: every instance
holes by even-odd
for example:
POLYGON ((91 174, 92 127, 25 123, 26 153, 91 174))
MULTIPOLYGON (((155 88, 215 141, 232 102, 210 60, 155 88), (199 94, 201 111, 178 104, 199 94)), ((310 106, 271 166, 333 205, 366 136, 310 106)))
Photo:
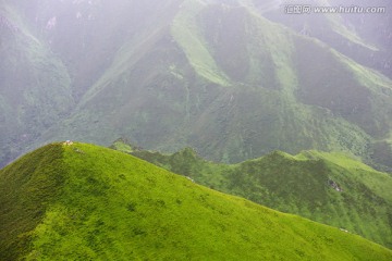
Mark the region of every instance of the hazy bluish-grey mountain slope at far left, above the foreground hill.
POLYGON ((0 165, 74 108, 68 69, 23 13, 0 1, 0 165))

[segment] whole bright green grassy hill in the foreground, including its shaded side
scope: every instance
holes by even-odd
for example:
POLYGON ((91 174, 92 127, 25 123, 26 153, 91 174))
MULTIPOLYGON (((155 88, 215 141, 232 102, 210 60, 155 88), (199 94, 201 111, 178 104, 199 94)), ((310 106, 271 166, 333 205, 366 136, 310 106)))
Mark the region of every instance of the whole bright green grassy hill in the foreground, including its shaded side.
POLYGON ((0 171, 1 260, 390 260, 359 236, 94 145, 0 171))

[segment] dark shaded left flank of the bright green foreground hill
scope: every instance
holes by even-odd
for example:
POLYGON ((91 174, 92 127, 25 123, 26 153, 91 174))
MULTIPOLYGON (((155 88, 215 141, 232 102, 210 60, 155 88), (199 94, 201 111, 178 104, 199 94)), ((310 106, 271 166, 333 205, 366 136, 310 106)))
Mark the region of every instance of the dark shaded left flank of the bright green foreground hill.
POLYGON ((26 154, 0 174, 0 259, 16 260, 27 250, 33 229, 42 221, 65 178, 61 146, 26 154))

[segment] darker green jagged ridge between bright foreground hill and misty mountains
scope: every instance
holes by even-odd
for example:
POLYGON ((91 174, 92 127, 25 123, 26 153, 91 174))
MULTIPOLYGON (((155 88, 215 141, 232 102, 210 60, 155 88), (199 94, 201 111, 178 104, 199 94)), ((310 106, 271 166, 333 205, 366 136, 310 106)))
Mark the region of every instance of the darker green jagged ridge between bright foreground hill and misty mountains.
POLYGON ((198 184, 392 247, 392 177, 345 154, 277 151, 229 165, 192 149, 162 154, 125 145, 118 140, 113 147, 198 184))

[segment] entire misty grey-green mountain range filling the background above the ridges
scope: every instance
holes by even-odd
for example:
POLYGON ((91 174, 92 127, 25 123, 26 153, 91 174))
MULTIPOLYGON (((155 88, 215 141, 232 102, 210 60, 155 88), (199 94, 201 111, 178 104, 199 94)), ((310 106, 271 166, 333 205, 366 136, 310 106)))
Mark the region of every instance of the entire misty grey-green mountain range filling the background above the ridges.
POLYGON ((3 0, 1 39, 16 50, 1 44, 0 55, 29 70, 2 71, 1 115, 11 122, 26 110, 34 117, 1 125, 1 163, 50 140, 109 146, 123 136, 162 151, 189 146, 221 162, 318 149, 391 170, 392 80, 379 66, 388 64, 391 30, 382 25, 370 41, 372 27, 364 25, 390 21, 390 12, 357 24, 343 14, 284 14, 284 4, 3 0), (39 48, 19 47, 17 37, 39 48), (37 52, 57 88, 23 59, 37 52), (368 54, 375 62, 364 62, 368 54), (10 109, 3 92, 29 97, 33 88, 16 78, 44 100, 23 98, 10 109))

